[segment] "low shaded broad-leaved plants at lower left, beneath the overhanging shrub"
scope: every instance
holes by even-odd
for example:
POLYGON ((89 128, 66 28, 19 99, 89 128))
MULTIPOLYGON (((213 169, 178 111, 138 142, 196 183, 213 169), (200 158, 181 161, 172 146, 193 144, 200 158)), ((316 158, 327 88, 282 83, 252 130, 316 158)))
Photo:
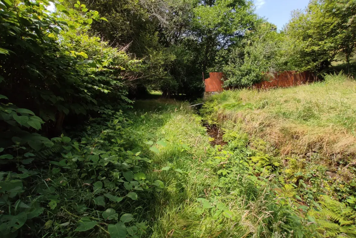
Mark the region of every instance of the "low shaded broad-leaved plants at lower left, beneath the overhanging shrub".
MULTIPOLYGON (((37 128, 33 121, 43 123, 32 111, 11 104, 1 104, 0 109, 2 122, 17 127, 9 131, 16 133, 12 145, 0 148, 2 168, 9 169, 0 172, 1 234, 145 234, 145 222, 129 212, 142 207, 164 184, 146 179, 142 171, 151 160, 142 155, 144 150, 126 149, 135 138, 122 112, 96 119, 76 139, 62 134, 49 140, 22 130, 37 128), (136 203, 138 199, 143 201, 136 203)), ((154 147, 146 153, 151 150, 154 147)))

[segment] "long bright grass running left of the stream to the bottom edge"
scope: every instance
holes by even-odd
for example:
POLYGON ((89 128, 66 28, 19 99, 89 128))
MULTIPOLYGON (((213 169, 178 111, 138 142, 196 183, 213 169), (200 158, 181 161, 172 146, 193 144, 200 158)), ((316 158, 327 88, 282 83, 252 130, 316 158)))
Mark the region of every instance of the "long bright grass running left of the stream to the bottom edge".
MULTIPOLYGON (((137 101, 135 108, 138 116, 135 131, 142 133, 138 140, 143 144, 164 138, 167 142, 166 147, 157 146, 159 154, 148 155, 152 164, 146 174, 165 184, 142 214, 151 226, 149 237, 273 237, 285 231, 284 223, 295 232, 304 229, 285 218, 296 207, 292 208, 294 205, 284 198, 274 197, 272 184, 261 187, 258 181, 251 183, 247 173, 242 176, 236 172, 235 177, 219 173, 242 154, 232 155, 234 152, 213 148, 201 124, 202 118, 190 111, 188 104, 146 100, 137 101), (169 170, 162 170, 163 167, 169 170), (236 181, 242 178, 244 182, 241 180, 237 186, 236 181), (231 182, 227 182, 229 179, 231 182), (211 207, 204 209, 198 198, 209 201, 211 207)), ((241 150, 245 148, 242 144, 241 150)))

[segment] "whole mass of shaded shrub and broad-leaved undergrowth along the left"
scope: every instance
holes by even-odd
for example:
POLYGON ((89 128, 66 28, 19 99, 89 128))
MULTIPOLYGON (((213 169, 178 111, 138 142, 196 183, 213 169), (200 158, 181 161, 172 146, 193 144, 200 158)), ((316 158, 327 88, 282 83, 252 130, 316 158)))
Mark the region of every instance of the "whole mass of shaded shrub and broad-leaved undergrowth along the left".
POLYGON ((146 179, 154 149, 136 148, 120 110, 139 61, 86 33, 98 12, 47 5, 0 2, 0 234, 143 236, 140 209, 164 184, 146 179), (44 136, 80 114, 81 133, 44 136))

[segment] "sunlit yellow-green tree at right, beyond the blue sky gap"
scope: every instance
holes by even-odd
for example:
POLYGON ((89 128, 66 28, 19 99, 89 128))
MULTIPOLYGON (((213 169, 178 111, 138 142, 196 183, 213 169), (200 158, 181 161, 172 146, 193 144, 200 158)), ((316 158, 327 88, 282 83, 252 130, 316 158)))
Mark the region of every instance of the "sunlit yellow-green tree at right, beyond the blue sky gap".
MULTIPOLYGON (((305 12, 294 11, 284 29, 295 66, 324 70, 342 52, 349 65, 355 47, 355 1, 313 0, 305 12)), ((348 67, 350 73, 350 67, 348 67)))

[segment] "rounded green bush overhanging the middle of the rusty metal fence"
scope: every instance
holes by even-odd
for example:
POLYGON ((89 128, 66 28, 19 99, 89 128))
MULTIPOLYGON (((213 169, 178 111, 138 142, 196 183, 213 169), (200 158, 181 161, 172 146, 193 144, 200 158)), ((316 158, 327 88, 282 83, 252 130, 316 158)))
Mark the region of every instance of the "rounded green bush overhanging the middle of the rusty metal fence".
POLYGON ((222 51, 216 70, 224 72, 226 87, 250 87, 273 74, 293 70, 284 52, 284 35, 276 26, 263 22, 246 34, 241 45, 222 51))

